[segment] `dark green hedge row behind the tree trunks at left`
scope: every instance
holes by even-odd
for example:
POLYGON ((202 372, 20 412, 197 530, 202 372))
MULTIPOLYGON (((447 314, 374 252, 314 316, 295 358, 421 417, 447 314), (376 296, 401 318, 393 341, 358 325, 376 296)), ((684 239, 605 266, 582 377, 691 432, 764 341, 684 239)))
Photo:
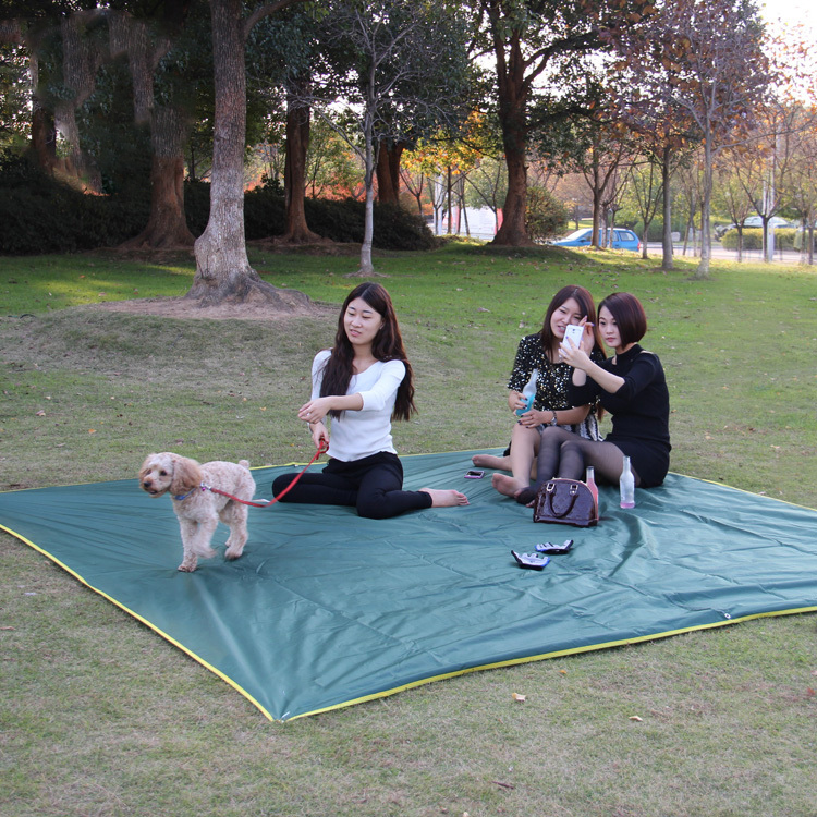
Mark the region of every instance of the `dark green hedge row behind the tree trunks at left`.
MULTIPOLYGON (((185 185, 185 212, 194 235, 209 215, 209 184, 185 185)), ((363 241, 364 204, 352 199, 306 199, 309 229, 338 242, 363 241)), ((137 235, 147 224, 146 200, 85 195, 21 159, 0 159, 0 253, 34 255, 110 247, 137 235)), ((428 249, 435 239, 425 222, 401 207, 375 205, 374 244, 381 249, 428 249)), ((280 235, 284 202, 275 188, 244 197, 248 240, 280 235)))

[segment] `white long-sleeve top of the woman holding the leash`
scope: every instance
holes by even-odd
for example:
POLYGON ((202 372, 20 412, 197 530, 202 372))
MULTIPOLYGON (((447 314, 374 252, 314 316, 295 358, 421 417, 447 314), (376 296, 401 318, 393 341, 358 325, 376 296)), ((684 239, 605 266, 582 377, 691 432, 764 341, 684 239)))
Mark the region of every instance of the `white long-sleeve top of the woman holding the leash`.
MULTIPOLYGON (((320 397, 324 367, 330 354, 329 350, 324 350, 313 361, 313 400, 320 397)), ((402 361, 376 361, 359 375, 352 375, 346 394, 359 394, 363 408, 346 410, 338 419, 327 416, 326 423, 330 425, 329 456, 352 462, 381 451, 397 453, 391 438, 391 414, 404 377, 402 361)))

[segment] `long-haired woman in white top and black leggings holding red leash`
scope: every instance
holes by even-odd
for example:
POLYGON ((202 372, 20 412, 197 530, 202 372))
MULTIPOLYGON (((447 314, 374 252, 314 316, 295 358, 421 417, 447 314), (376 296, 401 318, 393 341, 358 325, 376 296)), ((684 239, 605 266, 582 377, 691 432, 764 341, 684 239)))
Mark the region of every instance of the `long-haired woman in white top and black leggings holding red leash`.
MULTIPOLYGON (((455 490, 403 490, 391 420, 416 411, 414 385, 394 307, 380 284, 362 283, 347 295, 334 346, 315 356, 312 382, 312 400, 297 416, 308 424, 316 448, 329 443, 329 463, 320 474, 304 474, 282 502, 352 505, 368 519, 468 504, 455 490)), ((279 476, 273 495, 294 476, 279 476)))

